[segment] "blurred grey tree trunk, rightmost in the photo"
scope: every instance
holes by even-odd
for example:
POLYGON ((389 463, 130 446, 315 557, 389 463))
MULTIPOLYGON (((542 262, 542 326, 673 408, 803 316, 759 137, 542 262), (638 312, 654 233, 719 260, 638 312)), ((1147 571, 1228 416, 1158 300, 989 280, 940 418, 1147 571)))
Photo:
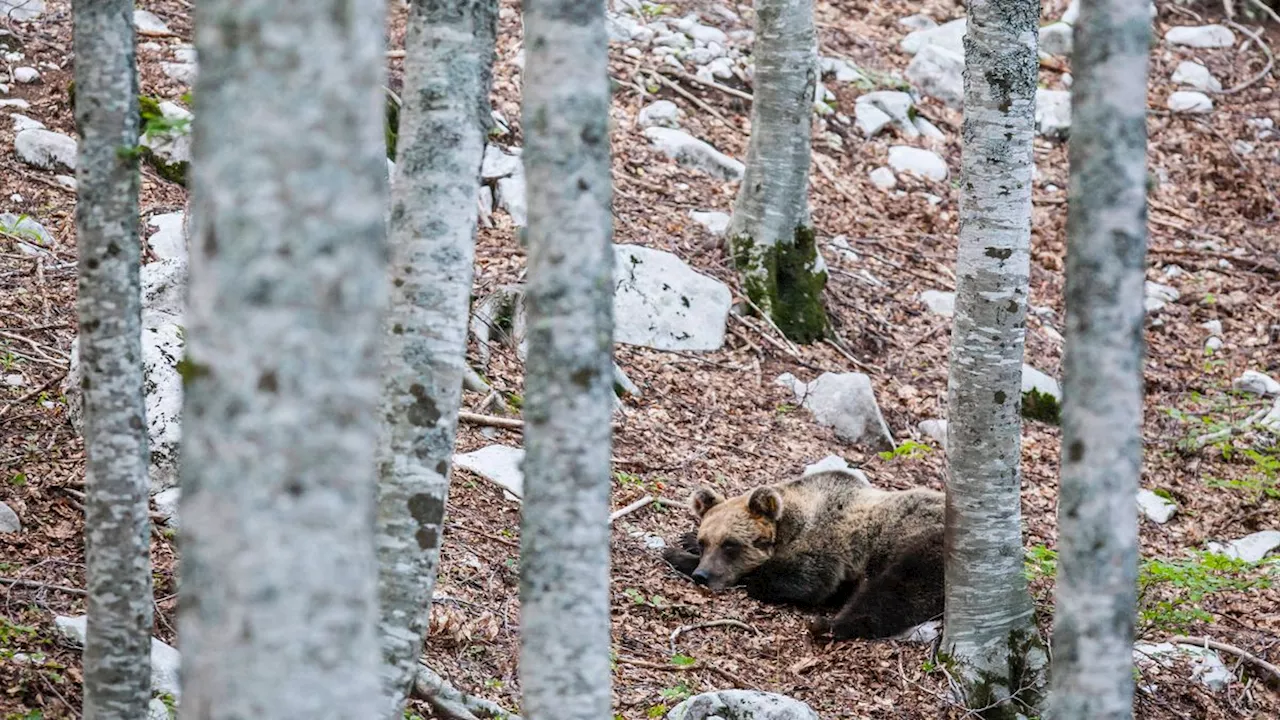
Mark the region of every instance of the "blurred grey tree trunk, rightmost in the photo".
POLYGON ((1138 602, 1151 22, 1142 3, 1084 0, 1075 32, 1051 710, 1124 720, 1138 602))

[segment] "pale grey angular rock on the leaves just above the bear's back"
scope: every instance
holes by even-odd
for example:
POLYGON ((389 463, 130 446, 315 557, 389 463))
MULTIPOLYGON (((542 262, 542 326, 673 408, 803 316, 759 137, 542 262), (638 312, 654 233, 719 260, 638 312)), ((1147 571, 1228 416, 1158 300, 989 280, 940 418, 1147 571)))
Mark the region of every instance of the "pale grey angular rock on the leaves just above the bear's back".
POLYGON ((850 443, 867 443, 877 450, 892 450, 893 437, 876 404, 872 380, 861 373, 823 373, 812 383, 781 375, 780 384, 790 379, 791 392, 801 406, 813 413, 819 425, 836 430, 850 443))

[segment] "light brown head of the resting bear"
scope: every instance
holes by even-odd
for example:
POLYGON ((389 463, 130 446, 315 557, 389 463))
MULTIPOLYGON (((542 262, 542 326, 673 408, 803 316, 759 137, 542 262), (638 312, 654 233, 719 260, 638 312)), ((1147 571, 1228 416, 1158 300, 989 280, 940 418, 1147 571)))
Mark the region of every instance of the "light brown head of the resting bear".
POLYGON ((731 587, 751 570, 773 557, 782 495, 771 487, 724 500, 721 493, 700 488, 692 496, 701 560, 694 582, 713 591, 731 587))

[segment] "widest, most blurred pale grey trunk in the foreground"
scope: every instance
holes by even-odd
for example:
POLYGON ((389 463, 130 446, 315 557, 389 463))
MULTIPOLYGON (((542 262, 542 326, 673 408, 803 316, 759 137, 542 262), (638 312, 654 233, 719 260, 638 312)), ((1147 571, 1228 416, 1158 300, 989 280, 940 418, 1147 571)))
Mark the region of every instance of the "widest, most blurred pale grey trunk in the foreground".
POLYGON ((383 22, 196 6, 179 621, 201 720, 379 716, 383 22))

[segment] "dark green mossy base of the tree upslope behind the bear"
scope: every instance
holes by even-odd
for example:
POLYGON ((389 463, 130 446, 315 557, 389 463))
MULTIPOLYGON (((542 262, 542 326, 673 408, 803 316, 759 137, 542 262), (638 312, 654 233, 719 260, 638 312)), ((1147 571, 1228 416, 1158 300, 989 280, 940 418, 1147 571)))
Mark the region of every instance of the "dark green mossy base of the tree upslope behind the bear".
POLYGON ((787 340, 806 345, 827 336, 829 323, 822 300, 827 272, 820 269, 813 228, 797 225, 792 242, 765 246, 749 234, 737 234, 731 247, 746 296, 787 340))

